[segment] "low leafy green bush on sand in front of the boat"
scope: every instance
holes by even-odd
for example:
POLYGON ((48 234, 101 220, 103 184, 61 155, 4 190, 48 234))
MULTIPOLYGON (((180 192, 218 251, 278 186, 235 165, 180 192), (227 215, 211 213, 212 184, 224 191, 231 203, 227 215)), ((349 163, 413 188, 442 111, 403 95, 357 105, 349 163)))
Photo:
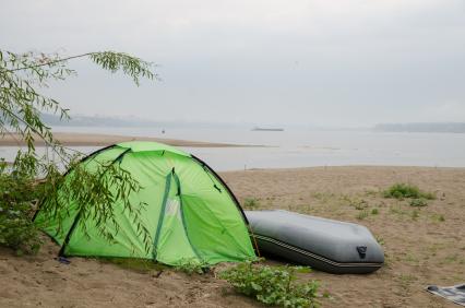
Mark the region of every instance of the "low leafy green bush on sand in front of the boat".
POLYGON ((281 307, 319 307, 318 282, 296 282, 297 271, 309 271, 300 266, 253 265, 240 263, 219 273, 237 292, 266 304, 281 307))

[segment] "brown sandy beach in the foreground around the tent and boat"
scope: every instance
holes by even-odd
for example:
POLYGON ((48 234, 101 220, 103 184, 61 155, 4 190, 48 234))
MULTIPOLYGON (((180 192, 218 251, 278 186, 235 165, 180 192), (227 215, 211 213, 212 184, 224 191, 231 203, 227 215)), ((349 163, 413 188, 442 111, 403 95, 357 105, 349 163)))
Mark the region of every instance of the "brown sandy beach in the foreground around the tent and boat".
MULTIPOLYGON (((373 274, 301 275, 320 281, 320 291, 330 293, 321 299, 323 307, 457 307, 425 287, 465 280, 465 169, 318 167, 222 176, 241 201, 258 201, 254 210, 284 209, 354 222, 379 239, 386 262, 373 274), (381 191, 400 181, 438 198, 425 208, 384 199, 381 191)), ((217 269, 189 276, 95 259, 70 258, 67 265, 53 260, 58 247, 44 240, 35 257, 0 250, 0 307, 262 307, 215 279, 217 269)))

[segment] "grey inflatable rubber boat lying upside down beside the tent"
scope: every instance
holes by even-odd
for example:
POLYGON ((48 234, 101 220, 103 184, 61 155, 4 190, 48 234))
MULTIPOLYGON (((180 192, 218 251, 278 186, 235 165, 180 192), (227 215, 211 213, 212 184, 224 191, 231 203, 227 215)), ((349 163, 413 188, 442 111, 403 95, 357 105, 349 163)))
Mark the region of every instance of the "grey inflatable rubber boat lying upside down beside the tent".
POLYGON ((288 211, 246 211, 262 253, 337 274, 371 273, 384 253, 363 226, 288 211))

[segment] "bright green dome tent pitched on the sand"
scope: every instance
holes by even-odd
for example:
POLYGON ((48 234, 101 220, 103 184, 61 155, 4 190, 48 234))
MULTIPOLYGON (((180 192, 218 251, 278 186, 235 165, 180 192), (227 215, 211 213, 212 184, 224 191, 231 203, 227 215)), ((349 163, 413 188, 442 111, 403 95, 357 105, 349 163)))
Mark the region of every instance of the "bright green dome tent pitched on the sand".
MULTIPOLYGON (((62 256, 143 258, 170 265, 255 258, 238 201, 219 176, 199 158, 160 143, 123 142, 91 154, 81 164, 92 170, 102 163, 117 164, 142 186, 139 192, 130 194, 130 202, 146 203, 141 223, 150 230, 153 245, 147 251, 121 200, 115 202, 120 227, 112 241, 96 229, 92 215, 80 222, 76 205, 70 200, 60 227, 58 220, 49 215, 47 218, 40 211, 35 217, 61 246, 62 256)), ((65 176, 72 177, 73 171, 65 176)), ((110 223, 105 227, 115 228, 110 223)))

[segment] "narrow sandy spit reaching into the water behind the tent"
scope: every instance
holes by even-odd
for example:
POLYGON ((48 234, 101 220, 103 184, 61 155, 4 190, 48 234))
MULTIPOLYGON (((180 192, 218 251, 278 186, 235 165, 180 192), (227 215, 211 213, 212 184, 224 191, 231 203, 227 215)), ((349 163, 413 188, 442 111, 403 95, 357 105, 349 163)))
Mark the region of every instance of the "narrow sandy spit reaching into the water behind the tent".
MULTIPOLYGON (((202 141, 188 141, 178 139, 164 139, 152 137, 130 137, 130 135, 112 135, 100 133, 73 133, 73 132, 56 132, 53 137, 65 146, 106 146, 119 142, 127 141, 153 141, 160 142, 172 146, 187 146, 187 147, 262 147, 264 145, 248 145, 248 144, 233 144, 233 143, 215 143, 202 141)), ((36 146, 45 146, 45 142, 36 139, 36 146)), ((21 146, 25 145, 24 140, 19 134, 5 134, 0 138, 0 146, 21 146)))

